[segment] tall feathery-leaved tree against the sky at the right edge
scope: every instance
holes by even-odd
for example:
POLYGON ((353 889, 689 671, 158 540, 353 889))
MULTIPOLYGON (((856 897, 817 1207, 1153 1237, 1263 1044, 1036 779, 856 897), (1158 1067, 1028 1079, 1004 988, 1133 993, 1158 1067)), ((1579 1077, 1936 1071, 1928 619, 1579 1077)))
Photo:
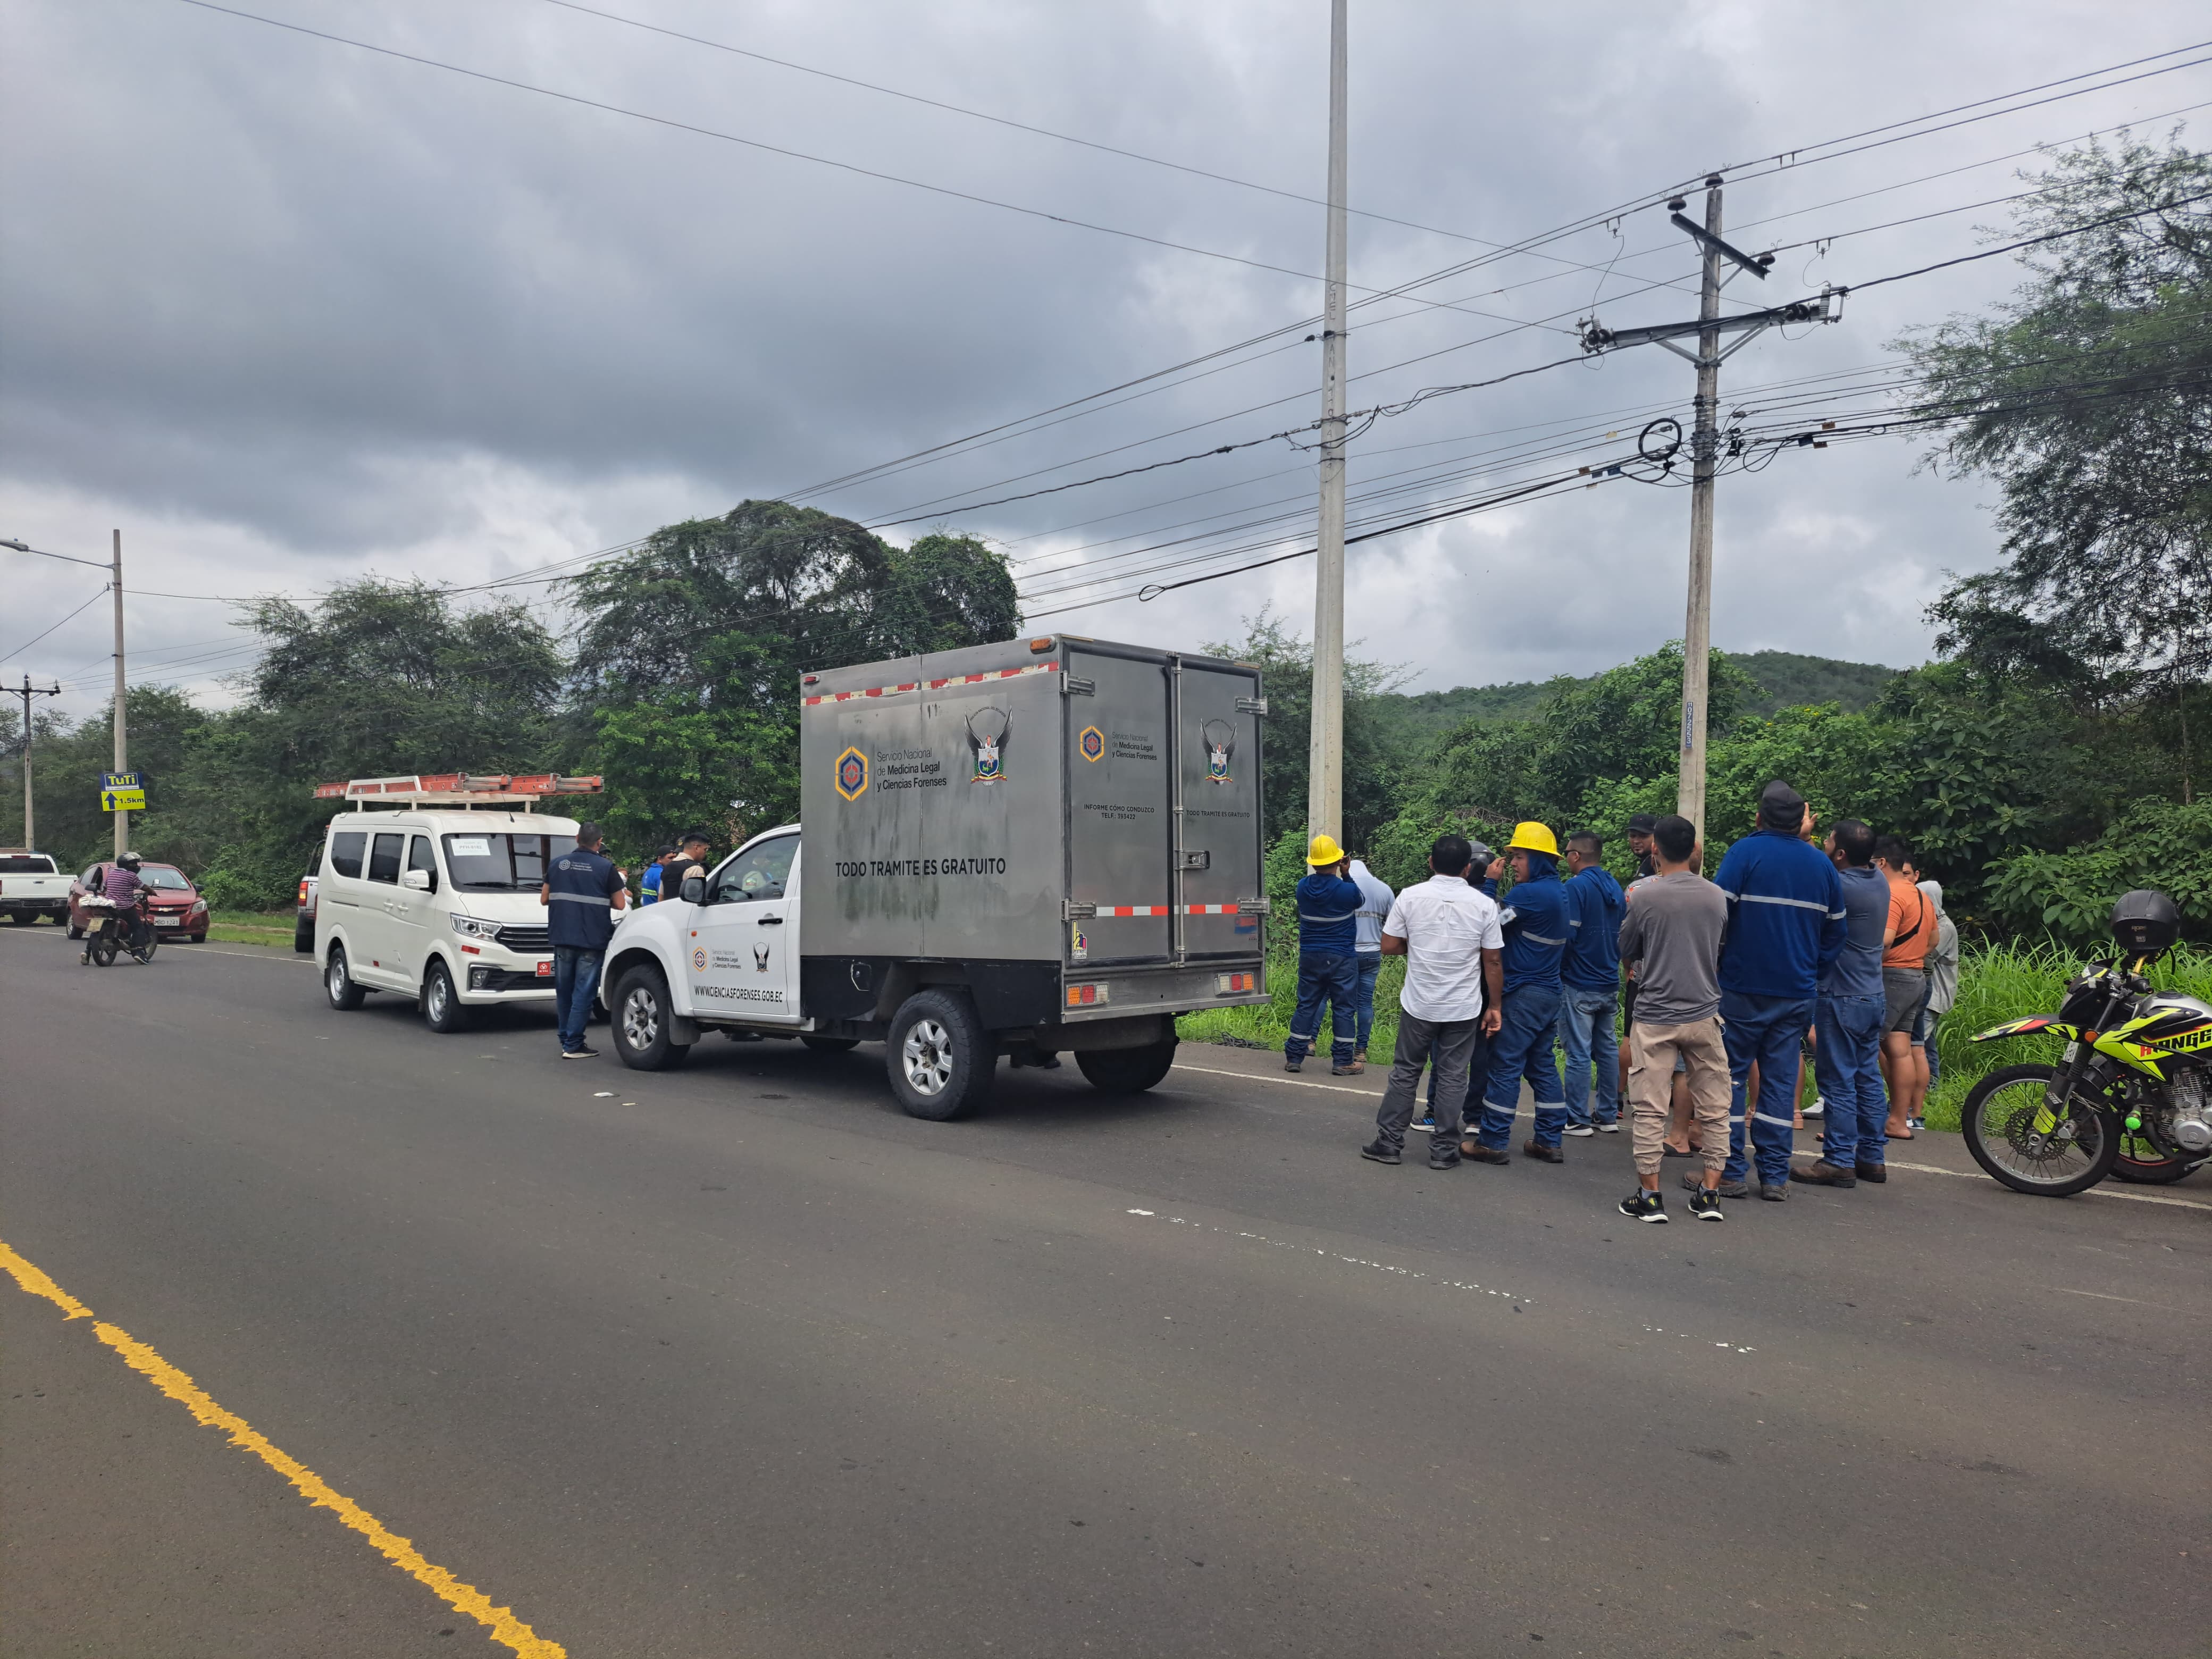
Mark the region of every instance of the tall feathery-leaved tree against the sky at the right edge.
POLYGON ((2059 155, 2015 228, 2070 232, 1989 316, 1898 341, 1931 456, 2002 491, 2006 564, 1929 615, 1938 646, 2093 695, 2212 668, 2212 157, 2124 137, 2059 155))

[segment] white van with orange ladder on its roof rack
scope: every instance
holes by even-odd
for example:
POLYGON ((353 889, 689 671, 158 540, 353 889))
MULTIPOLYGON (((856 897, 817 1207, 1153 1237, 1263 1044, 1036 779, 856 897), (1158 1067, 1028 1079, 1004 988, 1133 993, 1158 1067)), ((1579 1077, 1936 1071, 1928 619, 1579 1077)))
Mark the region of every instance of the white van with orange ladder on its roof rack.
MULTIPOLYGON (((325 787, 365 783, 447 779, 325 787)), ((445 792, 392 790, 380 799, 403 794, 445 792)), ((356 810, 330 821, 314 911, 314 956, 330 1006, 358 1009, 372 991, 392 991, 411 998, 429 1029, 442 1033, 467 1029, 471 1009, 500 1002, 551 1009, 553 945, 538 889, 546 867, 575 849, 577 821, 498 805, 356 810)))

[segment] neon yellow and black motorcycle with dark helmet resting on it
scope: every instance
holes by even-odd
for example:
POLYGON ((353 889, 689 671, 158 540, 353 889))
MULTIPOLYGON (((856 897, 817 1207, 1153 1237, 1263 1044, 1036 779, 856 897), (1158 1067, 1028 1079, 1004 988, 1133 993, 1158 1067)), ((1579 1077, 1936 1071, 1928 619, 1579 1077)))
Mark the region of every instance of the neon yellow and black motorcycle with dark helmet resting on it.
POLYGON ((2174 900, 2132 891, 2112 907, 2121 953, 2066 982, 2057 1013, 1975 1042, 2048 1035, 2055 1066, 2004 1066, 1960 1108, 1973 1161, 2015 1192, 2062 1199, 2106 1175, 2179 1181, 2212 1157, 2212 1006, 2143 975, 2181 933, 2174 900))

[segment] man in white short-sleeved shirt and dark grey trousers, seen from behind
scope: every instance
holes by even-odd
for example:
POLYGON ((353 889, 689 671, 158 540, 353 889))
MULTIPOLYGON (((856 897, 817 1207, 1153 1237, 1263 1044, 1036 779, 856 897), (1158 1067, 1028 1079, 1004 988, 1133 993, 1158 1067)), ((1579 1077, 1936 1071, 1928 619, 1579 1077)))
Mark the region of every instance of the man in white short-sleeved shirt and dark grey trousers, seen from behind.
POLYGON ((1429 1168, 1449 1170, 1460 1161, 1467 1057, 1478 1031, 1498 1031, 1506 945, 1498 902, 1467 885, 1471 856, 1464 836, 1438 836, 1429 847, 1433 874, 1398 894, 1383 922, 1383 956, 1405 958, 1405 989, 1398 991, 1398 1053, 1376 1113, 1376 1139, 1360 1148, 1360 1157, 1374 1164, 1400 1161, 1420 1071, 1431 1055, 1436 1130, 1429 1135, 1429 1168))

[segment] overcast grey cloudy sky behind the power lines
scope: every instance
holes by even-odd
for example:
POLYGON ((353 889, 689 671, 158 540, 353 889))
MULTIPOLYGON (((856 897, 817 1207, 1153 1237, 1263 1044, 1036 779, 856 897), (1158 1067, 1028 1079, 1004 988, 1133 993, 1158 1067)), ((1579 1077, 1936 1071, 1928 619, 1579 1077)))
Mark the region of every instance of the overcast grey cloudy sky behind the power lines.
MULTIPOLYGON (((119 526, 126 588, 513 577, 1321 310, 1323 210, 1301 197, 1325 186, 1325 0, 602 7, 1234 181, 551 0, 241 4, 728 137, 184 0, 0 0, 0 535, 104 560, 119 526)), ((1944 210, 2022 188, 2020 150, 2130 119, 2163 135, 2172 111, 2212 102, 2212 69, 1770 157, 2205 35, 2181 0, 1352 0, 1352 204, 1378 215, 1352 221, 1354 299, 1639 204, 1358 307, 1352 405, 1573 358, 1593 307, 1613 327, 1694 316, 1694 259, 1659 197, 1712 168, 1730 168, 1730 234, 1781 248, 1728 307, 1973 252, 2006 208, 1944 210)), ((2161 64, 2121 73, 2146 69, 2161 64)), ((2201 135, 2203 113, 2179 119, 2201 135)), ((1781 420, 1759 411, 1805 389, 1756 387, 1874 369, 1902 330, 2017 276, 1984 261, 1854 296, 1838 325, 1767 332, 1728 363, 1723 409, 1781 420)), ((1318 352, 1294 330, 803 500, 909 520, 894 540, 933 524, 993 538, 1040 628, 1197 646, 1272 606, 1305 633, 1312 560, 1062 611, 1243 562, 1232 549, 1310 546, 1314 456, 1285 440, 971 504, 1303 427, 1318 352)), ((1617 458, 1652 416, 1688 414, 1690 380, 1646 345, 1378 420, 1352 449, 1354 526, 1617 458)), ((1792 407, 1867 407, 1851 380, 1829 385, 1792 407)), ((1723 478, 1714 641, 1924 659, 1922 606, 1947 568, 1989 566, 1995 538, 1986 491, 1916 473, 1916 456, 1905 440, 1801 449, 1723 478)), ((1635 482, 1407 531, 1352 549, 1347 628, 1409 688, 1590 672, 1681 635, 1686 542, 1688 493, 1635 482)), ((62 708, 88 712, 106 695, 104 602, 13 648, 100 575, 0 560, 0 677, 58 675, 62 708)), ((549 588, 511 593, 557 617, 549 588)), ((219 677, 246 661, 230 619, 201 597, 133 597, 133 679, 223 699, 219 677)))

